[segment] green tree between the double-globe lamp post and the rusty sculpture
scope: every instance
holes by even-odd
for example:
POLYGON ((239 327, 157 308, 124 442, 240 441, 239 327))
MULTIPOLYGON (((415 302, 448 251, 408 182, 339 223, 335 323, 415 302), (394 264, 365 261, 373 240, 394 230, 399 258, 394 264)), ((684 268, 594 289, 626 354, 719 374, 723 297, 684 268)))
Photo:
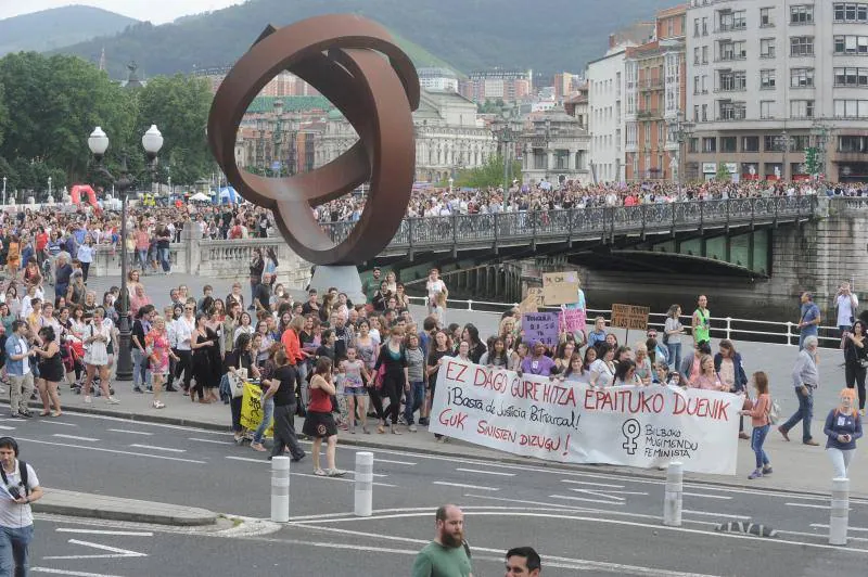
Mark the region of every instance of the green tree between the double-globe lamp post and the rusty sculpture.
POLYGON ((159 152, 159 180, 168 170, 171 180, 191 184, 210 175, 214 159, 205 137, 212 93, 202 78, 182 76, 156 77, 137 94, 139 112, 137 130, 156 125, 163 133, 159 152))

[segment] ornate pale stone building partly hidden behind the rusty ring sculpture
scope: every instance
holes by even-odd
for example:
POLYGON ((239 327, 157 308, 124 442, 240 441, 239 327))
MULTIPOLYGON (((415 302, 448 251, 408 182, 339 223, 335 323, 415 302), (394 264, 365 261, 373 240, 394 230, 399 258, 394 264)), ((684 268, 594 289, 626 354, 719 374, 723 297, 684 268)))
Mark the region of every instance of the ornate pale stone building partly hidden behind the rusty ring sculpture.
MULTIPOLYGON (((476 105, 456 92, 422 90, 413 113, 416 180, 445 182, 465 168, 475 168, 497 153, 497 141, 480 119, 476 105)), ((315 166, 337 158, 357 136, 337 112, 330 113, 316 136, 315 166)))

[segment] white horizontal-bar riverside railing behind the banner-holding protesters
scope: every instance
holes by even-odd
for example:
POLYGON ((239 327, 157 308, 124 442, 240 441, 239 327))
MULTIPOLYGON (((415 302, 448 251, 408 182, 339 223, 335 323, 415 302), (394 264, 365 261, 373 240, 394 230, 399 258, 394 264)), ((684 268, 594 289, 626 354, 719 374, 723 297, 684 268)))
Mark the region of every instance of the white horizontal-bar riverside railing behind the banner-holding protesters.
MULTIPOLYGON (((425 297, 410 296, 409 299, 413 305, 425 305, 425 297)), ((486 300, 449 299, 447 302, 447 307, 450 310, 487 312, 496 316, 500 316, 500 313, 503 311, 518 306, 518 303, 492 303, 486 300)), ((560 308, 541 307, 539 310, 557 311, 560 310, 560 308)), ((612 320, 610 310, 587 309, 587 313, 588 326, 593 324, 593 319, 596 317, 603 317, 607 322, 612 320)), ((685 328, 689 329, 691 318, 682 315, 680 320, 685 328)), ((799 326, 794 322, 761 321, 754 319, 739 319, 735 317, 711 317, 710 321, 710 334, 714 338, 757 341, 763 343, 786 344, 791 346, 799 345, 799 326)), ((648 328, 662 331, 665 322, 666 313, 652 312, 649 315, 648 328)), ((690 338, 690 336, 687 335, 687 338, 690 338)), ((838 326, 820 326, 817 339, 821 346, 837 347, 841 343, 841 335, 838 326)))

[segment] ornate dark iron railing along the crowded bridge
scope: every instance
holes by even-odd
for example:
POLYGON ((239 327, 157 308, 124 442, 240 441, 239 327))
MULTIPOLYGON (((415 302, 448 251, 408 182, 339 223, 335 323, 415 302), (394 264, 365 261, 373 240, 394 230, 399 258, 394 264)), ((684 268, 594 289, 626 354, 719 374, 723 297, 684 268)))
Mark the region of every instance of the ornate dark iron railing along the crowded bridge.
MULTIPOLYGON (((406 218, 390 243, 392 248, 427 248, 459 244, 534 242, 605 238, 616 232, 643 233, 701 230, 703 227, 800 220, 817 214, 820 198, 768 196, 406 218)), ((330 222, 323 230, 341 242, 355 222, 330 222)))

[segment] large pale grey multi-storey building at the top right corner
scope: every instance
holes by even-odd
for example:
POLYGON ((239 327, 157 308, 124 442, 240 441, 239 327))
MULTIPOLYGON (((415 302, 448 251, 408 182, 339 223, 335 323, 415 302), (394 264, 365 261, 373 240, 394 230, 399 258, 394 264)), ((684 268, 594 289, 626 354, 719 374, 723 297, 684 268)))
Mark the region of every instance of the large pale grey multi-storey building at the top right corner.
POLYGON ((691 0, 688 178, 868 180, 868 2, 691 0))

